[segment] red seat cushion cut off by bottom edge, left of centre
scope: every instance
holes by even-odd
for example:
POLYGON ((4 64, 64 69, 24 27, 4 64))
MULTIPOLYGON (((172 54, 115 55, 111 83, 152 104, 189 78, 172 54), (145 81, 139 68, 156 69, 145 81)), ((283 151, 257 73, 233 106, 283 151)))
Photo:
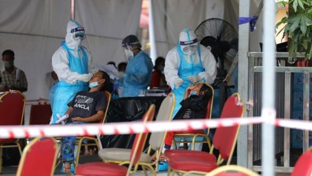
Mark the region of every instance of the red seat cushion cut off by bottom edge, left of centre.
POLYGON ((127 174, 127 167, 105 162, 90 162, 81 164, 76 168, 77 175, 84 176, 124 176, 127 174))

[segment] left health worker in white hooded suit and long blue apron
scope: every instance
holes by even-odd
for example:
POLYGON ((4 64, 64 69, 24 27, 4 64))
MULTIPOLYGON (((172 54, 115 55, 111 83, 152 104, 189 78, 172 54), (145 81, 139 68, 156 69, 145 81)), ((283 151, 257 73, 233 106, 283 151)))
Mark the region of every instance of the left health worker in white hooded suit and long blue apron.
POLYGON ((88 90, 88 81, 95 73, 94 63, 90 52, 81 46, 85 38, 85 30, 73 20, 67 24, 65 41, 61 42, 52 56, 52 67, 59 82, 50 89, 50 104, 52 119, 50 124, 56 122, 56 114, 63 116, 68 109, 67 103, 79 91, 88 90))

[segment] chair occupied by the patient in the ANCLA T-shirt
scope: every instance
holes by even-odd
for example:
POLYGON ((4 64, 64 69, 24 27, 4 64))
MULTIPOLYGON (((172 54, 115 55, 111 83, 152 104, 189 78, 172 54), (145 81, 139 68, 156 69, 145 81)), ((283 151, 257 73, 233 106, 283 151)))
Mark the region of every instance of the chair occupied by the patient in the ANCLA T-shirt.
MULTIPOLYGON (((98 121, 98 123, 103 124, 105 122, 105 118, 108 112, 108 107, 109 104, 111 102, 111 94, 107 91, 104 92, 106 98, 107 98, 107 105, 106 105, 106 109, 105 109, 105 114, 104 117, 102 119, 100 119, 98 121)), ((76 137, 76 144, 78 145, 78 150, 76 153, 76 158, 75 158, 75 162, 74 162, 74 167, 76 168, 78 163, 79 163, 79 157, 80 157, 80 150, 81 150, 81 146, 97 146, 98 147, 98 151, 100 149, 102 149, 102 144, 100 141, 100 134, 95 136, 82 136, 82 137, 76 137), (83 140, 87 140, 87 141, 94 141, 94 143, 83 143, 83 140)))

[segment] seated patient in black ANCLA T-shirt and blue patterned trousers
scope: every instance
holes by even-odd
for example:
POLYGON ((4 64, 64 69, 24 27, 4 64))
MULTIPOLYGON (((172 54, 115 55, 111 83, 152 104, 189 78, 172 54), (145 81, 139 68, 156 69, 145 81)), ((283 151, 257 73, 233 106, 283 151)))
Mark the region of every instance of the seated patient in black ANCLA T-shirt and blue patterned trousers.
MULTIPOLYGON (((110 82, 109 75, 104 71, 97 71, 89 81, 89 92, 81 91, 69 102, 66 114, 69 115, 66 124, 95 123, 104 117, 107 99, 104 94, 106 86, 110 82)), ((70 166, 74 160, 75 136, 62 138, 63 172, 70 173, 70 166)))

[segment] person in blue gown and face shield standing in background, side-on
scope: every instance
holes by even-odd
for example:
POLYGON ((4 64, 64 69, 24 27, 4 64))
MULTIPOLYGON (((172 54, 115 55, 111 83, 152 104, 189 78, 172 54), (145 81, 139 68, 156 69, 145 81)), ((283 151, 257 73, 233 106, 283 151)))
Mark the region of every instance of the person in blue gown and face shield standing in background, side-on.
POLYGON ((141 51, 141 44, 135 35, 122 40, 122 47, 128 59, 125 72, 117 72, 120 79, 116 81, 123 86, 122 97, 137 97, 141 90, 150 84, 153 63, 151 58, 141 51))

